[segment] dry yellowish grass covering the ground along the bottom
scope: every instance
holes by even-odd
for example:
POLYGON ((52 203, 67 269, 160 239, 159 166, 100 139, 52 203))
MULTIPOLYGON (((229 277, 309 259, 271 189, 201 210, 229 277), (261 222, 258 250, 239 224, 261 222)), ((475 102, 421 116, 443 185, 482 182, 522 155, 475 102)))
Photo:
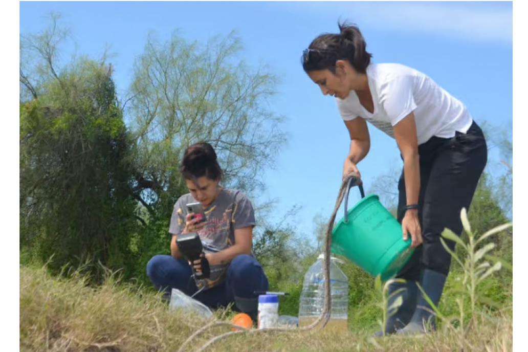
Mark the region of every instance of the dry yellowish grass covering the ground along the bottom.
MULTIPOLYGON (((20 268, 21 351, 177 351, 203 322, 194 316, 170 312, 158 297, 142 296, 111 280, 95 290, 82 278, 59 280, 44 269, 20 268)), ((479 351, 513 348, 511 311, 495 321, 481 321, 461 342, 459 332, 437 332, 421 338, 370 334, 339 335, 313 332, 266 332, 229 337, 209 351, 479 351)), ((229 331, 216 328, 187 350, 229 331)))

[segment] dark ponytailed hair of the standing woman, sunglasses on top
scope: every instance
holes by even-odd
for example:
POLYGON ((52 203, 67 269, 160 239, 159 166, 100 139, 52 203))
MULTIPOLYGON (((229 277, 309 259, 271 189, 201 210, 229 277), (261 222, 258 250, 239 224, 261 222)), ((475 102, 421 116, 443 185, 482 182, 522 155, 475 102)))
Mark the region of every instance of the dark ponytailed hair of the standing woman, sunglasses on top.
POLYGON ((310 43, 303 55, 305 72, 330 70, 335 73, 335 62, 347 60, 359 73, 366 73, 372 54, 356 25, 338 23, 340 33, 321 34, 310 43))

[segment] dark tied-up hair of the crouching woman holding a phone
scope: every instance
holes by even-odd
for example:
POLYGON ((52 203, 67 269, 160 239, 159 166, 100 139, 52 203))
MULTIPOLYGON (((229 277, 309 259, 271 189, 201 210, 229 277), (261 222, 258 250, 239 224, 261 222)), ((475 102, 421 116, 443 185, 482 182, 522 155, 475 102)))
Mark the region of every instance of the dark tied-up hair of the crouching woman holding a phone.
POLYGON ((209 179, 221 180, 223 174, 216 160, 216 152, 207 142, 196 143, 185 149, 180 172, 185 179, 205 176, 209 179))

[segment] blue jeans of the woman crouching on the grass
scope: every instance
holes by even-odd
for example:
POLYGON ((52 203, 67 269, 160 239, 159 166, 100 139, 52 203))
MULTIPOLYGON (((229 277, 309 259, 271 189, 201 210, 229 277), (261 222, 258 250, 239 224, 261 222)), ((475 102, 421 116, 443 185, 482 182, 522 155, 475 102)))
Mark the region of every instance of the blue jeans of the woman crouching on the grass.
MULTIPOLYGON (((147 263, 147 276, 157 290, 170 294, 173 288, 192 296, 198 290, 192 271, 184 259, 171 255, 155 255, 147 263)), ((260 263, 251 255, 239 254, 229 264, 225 281, 218 286, 205 289, 194 299, 210 308, 227 307, 235 303, 235 310, 256 315, 258 296, 254 291, 267 291, 268 279, 260 263)))

